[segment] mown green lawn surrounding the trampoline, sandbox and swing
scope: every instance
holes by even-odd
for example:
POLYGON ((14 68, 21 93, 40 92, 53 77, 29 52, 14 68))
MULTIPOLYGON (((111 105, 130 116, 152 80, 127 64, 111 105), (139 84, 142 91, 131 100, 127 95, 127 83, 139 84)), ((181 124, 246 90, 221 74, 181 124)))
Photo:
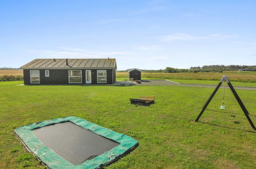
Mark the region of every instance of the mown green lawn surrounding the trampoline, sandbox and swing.
MULTIPOLYGON (((124 133, 140 145, 109 168, 255 168, 255 132, 226 91, 178 86, 15 86, 0 82, 0 168, 43 167, 14 129, 37 121, 76 116, 124 133), (129 98, 155 96, 150 107, 129 98)), ((255 91, 237 90, 256 124, 255 91)))

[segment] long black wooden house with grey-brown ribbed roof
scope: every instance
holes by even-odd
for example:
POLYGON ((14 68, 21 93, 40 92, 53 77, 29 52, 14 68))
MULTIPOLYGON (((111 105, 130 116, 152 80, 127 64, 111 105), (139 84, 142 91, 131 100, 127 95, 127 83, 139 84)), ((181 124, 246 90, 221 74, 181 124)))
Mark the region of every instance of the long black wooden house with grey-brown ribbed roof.
POLYGON ((115 59, 34 59, 21 67, 24 85, 113 84, 115 59))

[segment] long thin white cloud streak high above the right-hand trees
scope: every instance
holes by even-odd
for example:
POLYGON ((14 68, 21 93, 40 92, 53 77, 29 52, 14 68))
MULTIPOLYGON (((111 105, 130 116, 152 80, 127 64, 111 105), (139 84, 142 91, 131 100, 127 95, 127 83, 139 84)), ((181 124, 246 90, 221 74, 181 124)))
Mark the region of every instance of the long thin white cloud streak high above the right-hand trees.
POLYGON ((162 41, 174 41, 174 40, 199 40, 199 39, 224 39, 231 38, 237 35, 222 35, 222 34, 210 34, 207 36, 194 36, 186 33, 173 33, 161 37, 162 41))

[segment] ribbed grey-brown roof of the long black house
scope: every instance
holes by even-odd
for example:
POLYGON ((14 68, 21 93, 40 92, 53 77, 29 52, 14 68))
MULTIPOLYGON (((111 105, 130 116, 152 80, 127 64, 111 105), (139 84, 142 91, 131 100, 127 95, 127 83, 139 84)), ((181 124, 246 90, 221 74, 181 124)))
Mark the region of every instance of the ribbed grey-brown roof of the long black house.
POLYGON ((115 59, 34 59, 20 69, 116 69, 115 59))

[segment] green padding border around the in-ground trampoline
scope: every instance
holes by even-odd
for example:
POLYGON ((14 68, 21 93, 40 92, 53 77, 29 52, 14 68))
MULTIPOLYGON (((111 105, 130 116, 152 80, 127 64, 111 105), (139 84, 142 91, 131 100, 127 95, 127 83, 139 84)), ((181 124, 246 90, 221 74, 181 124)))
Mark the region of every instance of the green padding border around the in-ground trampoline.
POLYGON ((36 122, 31 125, 25 125, 17 128, 15 129, 15 132, 25 144, 27 149, 35 156, 37 156, 40 160, 42 160, 42 162, 49 168, 99 168, 119 159, 120 157, 134 149, 134 147, 138 144, 137 140, 125 134, 116 133, 112 130, 103 128, 100 125, 93 124, 85 119, 77 117, 64 117, 36 122), (96 135, 103 136, 107 139, 117 142, 117 146, 113 147, 113 149, 111 149, 110 151, 93 157, 92 159, 85 160, 81 164, 73 165, 69 161, 65 160, 63 157, 52 151, 33 133, 33 130, 36 131, 37 129, 52 124, 65 123, 69 121, 88 131, 95 133, 96 135))

